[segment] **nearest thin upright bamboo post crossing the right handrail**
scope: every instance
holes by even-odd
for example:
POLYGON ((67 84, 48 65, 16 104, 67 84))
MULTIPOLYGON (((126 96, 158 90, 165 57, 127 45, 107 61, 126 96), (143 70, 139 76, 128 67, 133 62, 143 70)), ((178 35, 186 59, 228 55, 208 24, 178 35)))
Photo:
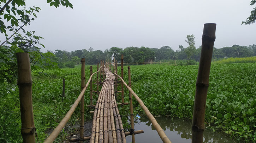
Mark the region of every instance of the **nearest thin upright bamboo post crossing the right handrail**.
MULTIPOLYGON (((129 87, 132 88, 131 84, 131 69, 130 66, 128 66, 128 80, 129 80, 129 87)), ((129 91, 129 100, 130 100, 130 113, 131 113, 131 130, 134 131, 134 122, 133 122, 133 107, 132 107, 132 93, 129 91)), ((135 143, 135 136, 134 133, 132 134, 132 143, 135 143)))

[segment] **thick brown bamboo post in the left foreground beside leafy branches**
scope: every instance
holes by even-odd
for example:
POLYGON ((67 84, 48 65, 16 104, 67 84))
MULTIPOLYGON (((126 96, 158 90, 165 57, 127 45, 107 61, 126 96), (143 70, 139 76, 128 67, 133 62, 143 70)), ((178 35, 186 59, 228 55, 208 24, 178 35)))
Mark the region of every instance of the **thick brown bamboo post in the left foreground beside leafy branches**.
POLYGON ((32 106, 32 77, 29 53, 16 53, 18 64, 18 82, 21 135, 23 143, 35 143, 36 128, 34 124, 32 106))

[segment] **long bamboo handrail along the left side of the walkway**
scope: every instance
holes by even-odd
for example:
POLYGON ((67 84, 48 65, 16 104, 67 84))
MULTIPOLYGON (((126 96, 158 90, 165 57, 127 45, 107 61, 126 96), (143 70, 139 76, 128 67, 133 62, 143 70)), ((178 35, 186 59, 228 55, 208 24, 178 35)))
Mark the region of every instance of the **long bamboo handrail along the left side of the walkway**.
MULTIPOLYGON (((102 67, 102 66, 101 66, 102 67)), ((100 69, 101 69, 100 67, 100 69)), ((98 70, 97 72, 99 72, 100 70, 98 70)), ((95 73, 97 73, 95 72, 95 73)), ((60 121, 59 125, 56 126, 56 128, 53 130, 53 132, 46 138, 46 140, 44 141, 44 143, 52 143, 60 134, 60 131, 64 128, 64 126, 67 124, 67 122, 69 121, 70 117, 72 116, 72 114, 74 113, 76 107, 78 106, 78 103, 81 101, 85 90, 87 89, 91 78, 93 77, 93 75, 95 74, 93 73, 87 84, 85 85, 84 89, 81 91, 80 95, 77 97, 75 103, 71 106, 70 110, 66 113, 65 117, 60 121)))

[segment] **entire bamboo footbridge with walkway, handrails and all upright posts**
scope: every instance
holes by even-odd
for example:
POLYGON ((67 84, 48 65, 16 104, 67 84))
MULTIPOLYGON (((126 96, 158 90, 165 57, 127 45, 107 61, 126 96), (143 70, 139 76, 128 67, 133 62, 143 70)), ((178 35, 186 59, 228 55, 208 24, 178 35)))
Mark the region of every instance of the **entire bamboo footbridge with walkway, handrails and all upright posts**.
MULTIPOLYGON (((203 36, 202 36, 202 50, 201 58, 198 69, 197 83, 196 83, 196 95, 194 103, 194 112, 192 120, 192 143, 203 142, 203 130, 204 130, 204 115, 207 90, 209 86, 209 73, 210 64, 212 59, 213 45, 215 41, 216 24, 204 24, 203 36)), ((19 95, 20 95, 20 113, 22 121, 21 134, 24 143, 36 143, 36 130, 34 125, 34 117, 32 110, 32 78, 30 70, 30 59, 28 53, 17 53, 18 63, 18 82, 19 95)), ((81 63, 81 93, 76 99, 75 103, 71 106, 70 110, 66 113, 65 117, 61 120, 58 126, 52 131, 52 133, 46 138, 44 143, 53 143, 58 137, 62 129, 65 127, 76 107, 80 103, 81 117, 80 117, 80 136, 78 138, 72 138, 72 142, 83 143, 90 140, 90 143, 126 143, 126 136, 132 136, 132 143, 135 143, 135 135, 141 134, 143 130, 134 130, 133 123, 133 107, 132 97, 134 97, 145 114, 153 124, 158 135, 162 139, 163 143, 171 143, 170 139, 166 136, 161 126, 157 123, 154 116, 150 113, 148 108, 144 105, 142 100, 131 89, 131 72, 128 66, 128 80, 127 85, 124 81, 124 58, 121 55, 121 76, 117 74, 117 61, 101 60, 101 63, 97 64, 97 71, 93 73, 92 66, 90 66, 90 78, 85 84, 85 59, 82 58, 81 63), (96 83, 97 91, 93 91, 93 76, 97 75, 96 83), (99 76, 100 74, 100 76, 99 76), (100 82, 99 82, 100 78, 100 82), (102 79, 101 79, 102 78, 102 79), (120 80, 118 80, 118 78, 120 80), (101 82, 103 81, 103 82, 101 82), (121 91, 117 91, 118 84, 121 84, 121 91), (87 90, 90 84, 90 105, 87 105, 90 111, 93 113, 93 125, 91 129, 91 136, 84 137, 84 92, 87 90), (99 91, 99 85, 102 85, 101 91, 99 91), (129 103, 124 102, 124 86, 129 91, 129 103), (93 105, 93 93, 99 95, 97 102, 93 105), (117 103, 118 93, 121 93, 121 103, 117 103), (130 105, 130 119, 131 129, 129 132, 125 132, 121 115, 119 114, 118 104, 121 106, 130 105)))

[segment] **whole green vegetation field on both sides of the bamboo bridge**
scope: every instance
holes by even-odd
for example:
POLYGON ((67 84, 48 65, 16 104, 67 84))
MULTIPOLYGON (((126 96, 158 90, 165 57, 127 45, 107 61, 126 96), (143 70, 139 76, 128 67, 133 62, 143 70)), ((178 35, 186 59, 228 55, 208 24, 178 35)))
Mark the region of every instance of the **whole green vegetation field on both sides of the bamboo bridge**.
MULTIPOLYGON (((96 66, 93 66, 96 71, 96 66)), ((89 66, 85 67, 86 80, 89 78, 89 66)), ((33 105, 35 126, 39 141, 46 138, 46 131, 54 128, 71 105, 78 97, 81 90, 81 65, 74 69, 62 69, 60 75, 54 71, 47 71, 51 78, 37 78, 34 76, 33 105), (61 98, 62 78, 66 80, 66 97, 61 98)), ((171 117, 192 119, 195 96, 195 84, 198 65, 171 66, 171 65, 141 65, 131 66, 132 89, 143 100, 153 115, 169 115, 171 117)), ((120 75, 120 67, 118 67, 120 75)), ((127 66, 124 67, 124 80, 127 82, 127 66)), ((96 76, 95 78, 96 79, 96 76)), ((256 63, 238 64, 213 64, 210 72, 210 86, 206 104, 206 126, 214 130, 223 130, 231 137, 242 142, 256 141, 256 63)), ((0 141, 22 141, 20 135, 20 117, 18 88, 10 92, 6 101, 1 102, 4 113, 9 113, 10 118, 1 117, 6 123, 0 131, 0 141), (6 105, 5 105, 6 104, 6 105), (8 104, 8 105, 7 105, 8 104), (12 110, 5 110, 5 106, 12 106, 12 110), (13 119, 12 118, 16 118, 13 119), (14 136, 10 140, 10 136, 14 136)), ((95 86, 94 86, 95 88, 95 86)), ((95 90, 95 89, 94 89, 95 90)), ((125 90, 125 101, 129 101, 128 92, 125 90)), ((120 96, 119 96, 120 98, 120 96)), ((120 100, 119 100, 120 101, 120 100)), ((89 90, 85 93, 85 104, 89 104, 89 90)), ((96 97, 94 97, 96 103, 96 97)), ((143 115, 144 112, 133 99, 135 114, 143 115)), ((85 120, 91 119, 88 108, 85 108, 85 120)), ((129 115, 129 106, 120 108, 123 115, 129 115)), ((69 124, 79 122, 79 106, 71 117, 69 124)), ((123 117, 123 121, 127 121, 123 117)), ((61 132, 61 141, 67 135, 66 129, 61 132)))

